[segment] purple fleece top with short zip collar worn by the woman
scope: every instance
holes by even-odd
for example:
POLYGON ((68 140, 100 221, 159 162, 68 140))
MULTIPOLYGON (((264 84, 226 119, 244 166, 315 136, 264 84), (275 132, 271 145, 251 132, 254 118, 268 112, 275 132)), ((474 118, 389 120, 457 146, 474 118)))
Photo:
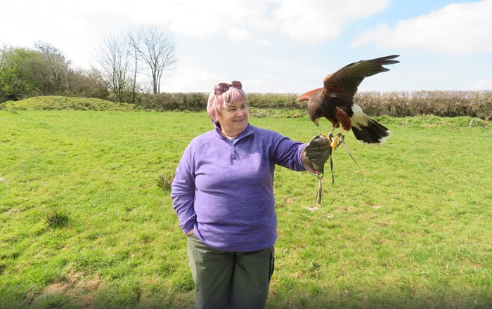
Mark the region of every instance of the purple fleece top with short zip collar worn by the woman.
POLYGON ((228 140, 219 128, 191 140, 171 185, 173 208, 184 233, 214 249, 250 252, 277 239, 273 198, 275 165, 305 171, 304 143, 248 124, 228 140))

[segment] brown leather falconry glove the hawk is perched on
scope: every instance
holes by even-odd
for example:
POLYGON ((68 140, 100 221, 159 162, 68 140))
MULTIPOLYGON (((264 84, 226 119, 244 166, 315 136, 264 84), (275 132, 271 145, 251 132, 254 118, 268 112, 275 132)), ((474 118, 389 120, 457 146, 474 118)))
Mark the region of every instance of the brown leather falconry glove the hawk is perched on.
POLYGON ((317 135, 311 138, 309 145, 304 147, 302 164, 306 171, 313 175, 323 173, 325 162, 330 157, 330 140, 325 136, 317 135))

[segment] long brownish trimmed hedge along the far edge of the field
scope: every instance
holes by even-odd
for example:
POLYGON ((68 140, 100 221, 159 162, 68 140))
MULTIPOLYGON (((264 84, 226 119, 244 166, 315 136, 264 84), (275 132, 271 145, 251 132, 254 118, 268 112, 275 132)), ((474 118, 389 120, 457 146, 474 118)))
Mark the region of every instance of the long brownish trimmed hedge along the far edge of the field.
MULTIPOLYGON (((248 93, 250 107, 305 110, 298 93, 248 93)), ((156 111, 200 111, 207 108, 207 93, 161 93, 143 98, 141 107, 156 111)), ((492 114, 492 91, 368 91, 356 93, 356 103, 371 116, 470 116, 487 119, 492 114)))

